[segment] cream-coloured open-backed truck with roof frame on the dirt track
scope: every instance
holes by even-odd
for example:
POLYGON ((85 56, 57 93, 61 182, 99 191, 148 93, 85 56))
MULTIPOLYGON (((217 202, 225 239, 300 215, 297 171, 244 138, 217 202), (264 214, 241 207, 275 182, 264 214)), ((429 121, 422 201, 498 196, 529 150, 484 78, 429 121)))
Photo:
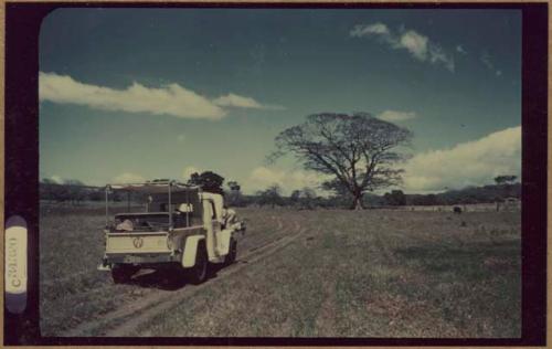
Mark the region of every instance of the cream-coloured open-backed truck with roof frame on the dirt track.
POLYGON ((174 274, 200 284, 210 264, 234 263, 238 235, 245 232, 221 194, 174 180, 107 184, 105 201, 105 253, 98 269, 110 271, 116 284, 140 268, 179 271, 174 274), (118 194, 120 201, 125 192, 127 210, 110 219, 110 197, 118 194), (131 197, 141 202, 138 210, 130 209, 131 197))

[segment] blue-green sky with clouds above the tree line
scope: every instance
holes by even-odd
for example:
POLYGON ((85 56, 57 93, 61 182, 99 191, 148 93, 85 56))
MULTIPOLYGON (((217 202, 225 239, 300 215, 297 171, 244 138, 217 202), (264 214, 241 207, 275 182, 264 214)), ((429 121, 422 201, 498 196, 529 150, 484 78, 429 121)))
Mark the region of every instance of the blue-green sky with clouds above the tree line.
POLYGON ((274 137, 319 112, 414 131, 406 192, 521 168, 517 10, 61 9, 40 36, 40 176, 214 170, 245 192, 319 177, 274 137))

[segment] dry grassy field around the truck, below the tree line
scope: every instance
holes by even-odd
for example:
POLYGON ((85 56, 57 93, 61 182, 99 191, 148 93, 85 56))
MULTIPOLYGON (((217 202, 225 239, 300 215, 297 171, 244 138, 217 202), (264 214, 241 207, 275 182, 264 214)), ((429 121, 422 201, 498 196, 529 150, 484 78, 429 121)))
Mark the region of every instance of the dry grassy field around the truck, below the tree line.
POLYGON ((242 209, 200 286, 97 272, 99 209, 41 212, 44 336, 519 337, 520 213, 242 209))

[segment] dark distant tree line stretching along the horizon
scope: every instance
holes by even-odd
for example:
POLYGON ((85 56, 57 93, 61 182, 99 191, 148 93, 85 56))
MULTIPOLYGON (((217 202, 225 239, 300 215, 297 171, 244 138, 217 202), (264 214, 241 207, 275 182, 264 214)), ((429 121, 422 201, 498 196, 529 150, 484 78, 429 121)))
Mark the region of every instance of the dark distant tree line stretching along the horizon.
MULTIPOLYGON (((318 195, 312 188, 302 188, 291 191, 288 195, 283 189, 273 184, 254 194, 242 193, 242 186, 231 180, 224 186, 224 178, 213 171, 192 173, 190 184, 199 186, 204 191, 215 192, 225 197, 230 207, 289 207, 298 210, 311 210, 316 208, 350 208, 354 197, 348 191, 335 192, 330 197, 318 195)), ((144 198, 114 191, 109 194, 113 201, 126 201, 127 198, 134 202, 142 201, 144 198)), ((391 190, 381 195, 364 193, 362 207, 401 207, 401 205, 452 205, 469 203, 495 203, 502 202, 508 198, 521 198, 521 184, 517 182, 516 176, 499 176, 495 178, 495 184, 484 187, 467 187, 460 190, 447 190, 440 193, 406 194, 402 190, 391 190)), ((40 199, 49 202, 66 202, 78 204, 84 201, 105 200, 103 187, 84 186, 78 180, 66 180, 63 183, 43 179, 40 182, 40 199)))

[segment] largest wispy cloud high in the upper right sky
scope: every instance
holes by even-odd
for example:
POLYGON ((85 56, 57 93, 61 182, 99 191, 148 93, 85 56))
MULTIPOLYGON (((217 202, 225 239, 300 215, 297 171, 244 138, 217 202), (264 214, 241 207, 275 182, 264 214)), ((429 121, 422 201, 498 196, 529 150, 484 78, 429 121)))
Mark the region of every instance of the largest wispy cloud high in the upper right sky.
MULTIPOLYGON (((415 30, 400 29, 397 33, 383 23, 358 24, 349 32, 353 38, 375 36, 395 50, 406 50, 414 59, 432 64, 442 64, 450 72, 455 71, 454 60, 443 49, 415 30)), ((457 46, 458 50, 458 46, 457 46)))

